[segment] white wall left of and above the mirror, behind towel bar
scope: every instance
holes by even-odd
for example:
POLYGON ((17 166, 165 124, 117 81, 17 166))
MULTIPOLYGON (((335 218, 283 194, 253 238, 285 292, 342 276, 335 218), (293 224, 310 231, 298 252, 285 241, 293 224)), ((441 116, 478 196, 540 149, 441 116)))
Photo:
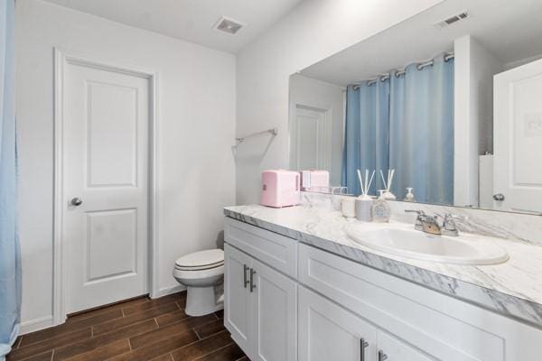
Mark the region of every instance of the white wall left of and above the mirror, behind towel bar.
POLYGON ((260 171, 288 167, 288 77, 441 0, 307 0, 238 53, 237 134, 278 127, 273 143, 238 147, 237 201, 255 203, 260 171))

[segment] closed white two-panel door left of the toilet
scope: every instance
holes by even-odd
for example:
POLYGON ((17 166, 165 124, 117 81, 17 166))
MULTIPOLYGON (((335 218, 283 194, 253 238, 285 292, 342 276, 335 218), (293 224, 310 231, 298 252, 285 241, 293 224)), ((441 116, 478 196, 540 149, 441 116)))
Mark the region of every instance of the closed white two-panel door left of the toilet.
POLYGON ((62 67, 66 313, 147 293, 150 79, 62 67))

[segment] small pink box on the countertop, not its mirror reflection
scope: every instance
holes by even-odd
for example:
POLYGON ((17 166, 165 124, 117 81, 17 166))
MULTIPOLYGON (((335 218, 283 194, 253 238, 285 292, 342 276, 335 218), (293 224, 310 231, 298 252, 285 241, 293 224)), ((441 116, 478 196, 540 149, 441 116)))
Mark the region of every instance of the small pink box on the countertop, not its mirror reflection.
POLYGON ((297 171, 262 171, 261 204, 267 207, 289 207, 301 203, 297 171))

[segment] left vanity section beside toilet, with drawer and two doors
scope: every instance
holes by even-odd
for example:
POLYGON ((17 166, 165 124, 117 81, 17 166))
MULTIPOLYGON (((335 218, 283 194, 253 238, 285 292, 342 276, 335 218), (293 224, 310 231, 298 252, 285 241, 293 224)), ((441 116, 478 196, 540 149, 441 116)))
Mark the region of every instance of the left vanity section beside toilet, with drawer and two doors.
POLYGON ((297 282, 285 273, 296 274, 297 259, 293 268, 281 249, 293 244, 297 255, 297 245, 291 238, 245 226, 233 220, 226 224, 224 324, 250 360, 295 361, 297 282), (264 253, 275 267, 254 256, 264 253))

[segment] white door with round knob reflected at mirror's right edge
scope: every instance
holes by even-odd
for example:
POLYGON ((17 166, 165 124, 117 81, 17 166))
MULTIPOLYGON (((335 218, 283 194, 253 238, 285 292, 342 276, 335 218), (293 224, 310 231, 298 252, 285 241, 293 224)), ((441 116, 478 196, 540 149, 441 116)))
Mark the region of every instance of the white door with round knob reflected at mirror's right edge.
POLYGON ((494 206, 542 212, 542 60, 494 79, 494 206), (502 200, 497 200, 502 199, 502 200))

